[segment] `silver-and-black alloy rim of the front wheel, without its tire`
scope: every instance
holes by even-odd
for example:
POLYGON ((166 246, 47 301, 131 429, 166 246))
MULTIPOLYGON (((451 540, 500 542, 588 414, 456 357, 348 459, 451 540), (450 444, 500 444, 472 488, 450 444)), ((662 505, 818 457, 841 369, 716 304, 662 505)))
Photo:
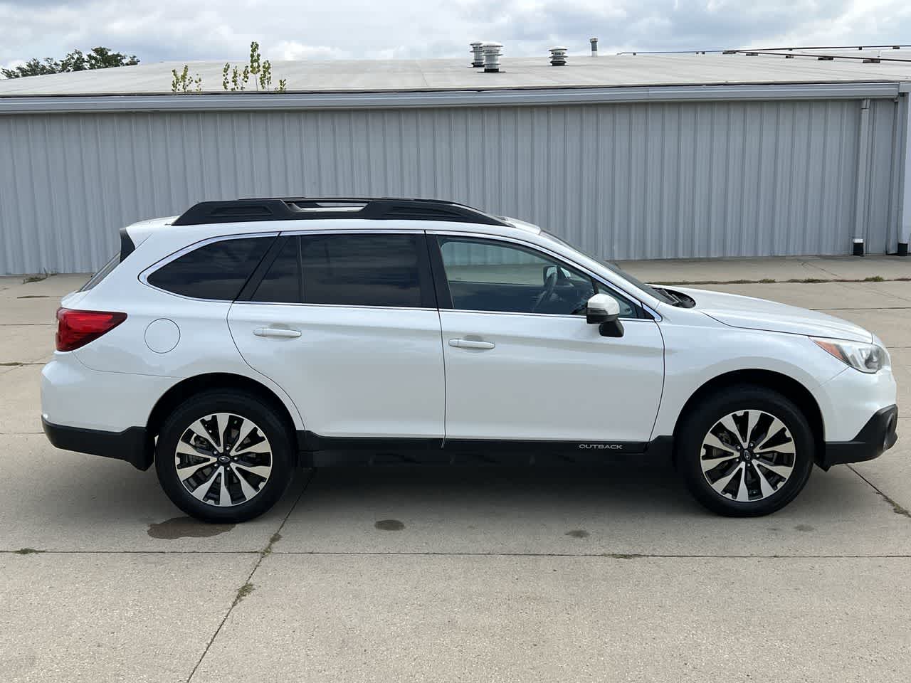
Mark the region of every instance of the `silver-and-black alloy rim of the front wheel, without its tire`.
POLYGON ((705 480, 716 494, 740 503, 779 491, 793 474, 795 457, 788 428, 760 410, 725 415, 706 433, 700 449, 705 480))

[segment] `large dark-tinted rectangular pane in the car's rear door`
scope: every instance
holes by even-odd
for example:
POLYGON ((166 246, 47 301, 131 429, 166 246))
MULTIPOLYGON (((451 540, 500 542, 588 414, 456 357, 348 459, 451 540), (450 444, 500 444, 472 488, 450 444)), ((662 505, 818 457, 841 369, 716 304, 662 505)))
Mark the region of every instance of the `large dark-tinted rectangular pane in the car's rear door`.
POLYGON ((302 236, 303 301, 418 308, 419 245, 416 235, 302 236))

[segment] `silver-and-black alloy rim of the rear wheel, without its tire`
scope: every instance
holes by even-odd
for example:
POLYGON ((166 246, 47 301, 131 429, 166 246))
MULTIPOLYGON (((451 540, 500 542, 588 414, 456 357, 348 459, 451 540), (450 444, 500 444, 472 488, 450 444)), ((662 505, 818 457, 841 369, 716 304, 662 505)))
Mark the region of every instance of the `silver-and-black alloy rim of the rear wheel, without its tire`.
POLYGON ((230 507, 262 491, 272 471, 269 439, 235 413, 213 413, 190 423, 174 451, 178 479, 202 503, 230 507))

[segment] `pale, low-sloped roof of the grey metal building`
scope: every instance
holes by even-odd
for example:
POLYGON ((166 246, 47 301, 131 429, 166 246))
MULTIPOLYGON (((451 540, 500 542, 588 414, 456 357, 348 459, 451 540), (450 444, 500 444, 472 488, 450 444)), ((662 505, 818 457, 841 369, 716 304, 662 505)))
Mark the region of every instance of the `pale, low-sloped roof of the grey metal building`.
MULTIPOLYGON (((907 54, 903 50, 883 51, 883 56, 890 57, 907 54)), ((859 59, 821 61, 814 56, 769 54, 573 55, 568 57, 567 66, 550 66, 545 55, 505 56, 497 74, 471 68, 469 59, 466 55, 465 59, 273 61, 272 73, 273 82, 280 77, 287 79, 290 94, 911 81, 911 58, 864 63, 859 59)), ((223 61, 189 62, 188 66, 191 76, 202 76, 206 92, 224 95, 223 61)), ((0 97, 170 95, 174 68, 182 70, 183 63, 0 80, 0 97)))

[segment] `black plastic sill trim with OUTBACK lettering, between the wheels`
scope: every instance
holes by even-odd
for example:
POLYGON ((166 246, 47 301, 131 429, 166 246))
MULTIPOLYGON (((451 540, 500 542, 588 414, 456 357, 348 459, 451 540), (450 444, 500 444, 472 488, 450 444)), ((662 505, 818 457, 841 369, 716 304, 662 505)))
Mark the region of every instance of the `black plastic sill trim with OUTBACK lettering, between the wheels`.
POLYGON ((605 464, 643 455, 670 458, 673 437, 652 442, 514 441, 327 437, 297 433, 304 466, 376 464, 605 464))

